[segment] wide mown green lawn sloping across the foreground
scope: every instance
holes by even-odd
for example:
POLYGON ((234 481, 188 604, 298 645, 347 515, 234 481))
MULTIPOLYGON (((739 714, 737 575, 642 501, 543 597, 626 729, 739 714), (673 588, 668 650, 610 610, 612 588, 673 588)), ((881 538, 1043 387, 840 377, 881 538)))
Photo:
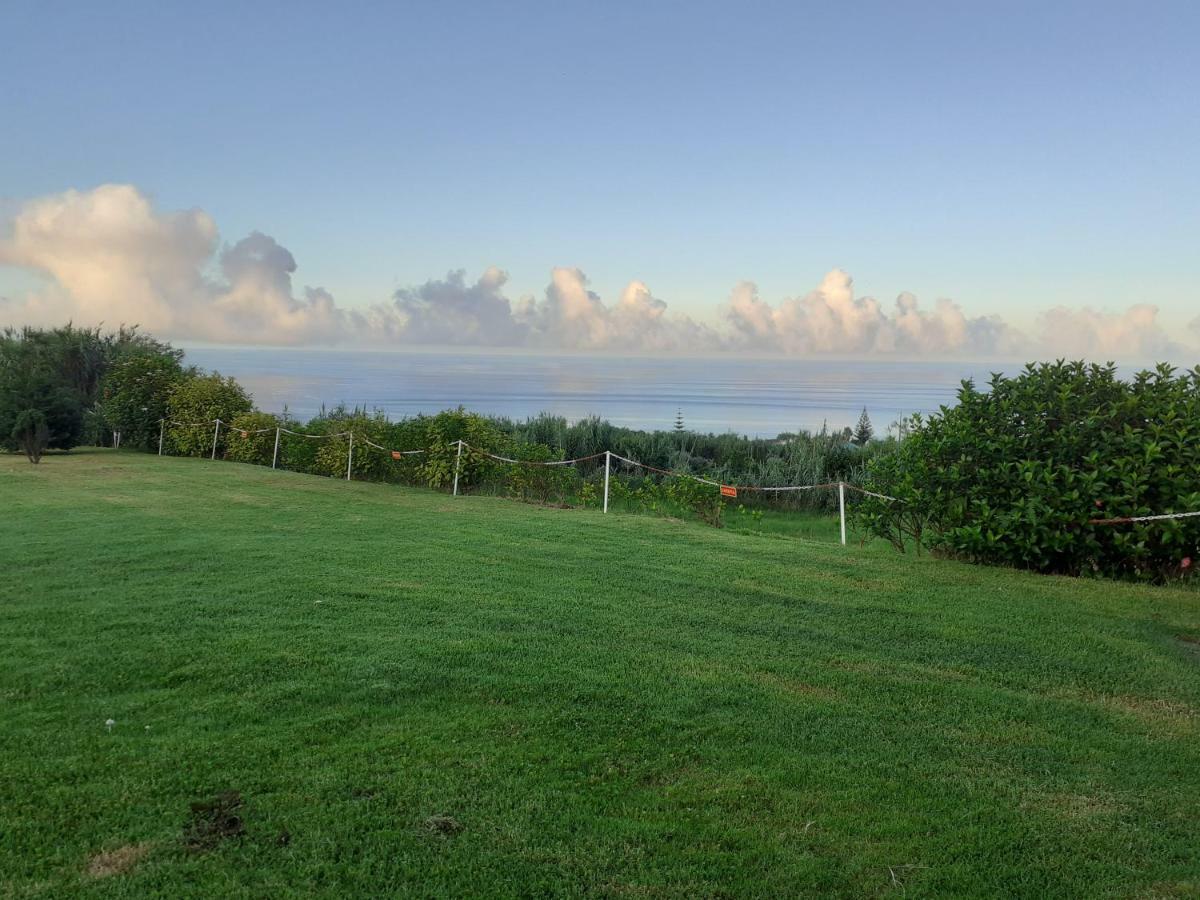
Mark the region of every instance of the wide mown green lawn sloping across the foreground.
POLYGON ((104 451, 0 509, 0 895, 1200 894, 1196 593, 104 451))

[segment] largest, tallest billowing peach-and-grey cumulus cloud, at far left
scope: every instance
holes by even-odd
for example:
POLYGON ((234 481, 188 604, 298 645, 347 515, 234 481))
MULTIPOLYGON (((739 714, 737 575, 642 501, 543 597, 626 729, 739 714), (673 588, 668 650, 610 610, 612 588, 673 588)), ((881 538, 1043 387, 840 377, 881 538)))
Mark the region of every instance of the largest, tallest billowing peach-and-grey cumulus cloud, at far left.
POLYGON ((386 310, 342 310, 322 288, 296 296, 295 259, 265 234, 217 248, 208 214, 157 212, 128 185, 34 200, 0 240, 0 264, 38 271, 49 284, 7 300, 0 317, 139 324, 169 337, 280 344, 396 331, 386 310), (210 275, 215 258, 218 272, 210 275))

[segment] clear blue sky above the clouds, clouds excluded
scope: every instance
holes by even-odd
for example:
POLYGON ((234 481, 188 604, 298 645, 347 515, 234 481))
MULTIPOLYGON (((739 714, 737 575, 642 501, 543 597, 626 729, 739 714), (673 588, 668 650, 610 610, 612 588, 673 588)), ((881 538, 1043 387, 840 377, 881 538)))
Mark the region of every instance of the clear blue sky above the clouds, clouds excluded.
MULTIPOLYGON (((10 2, 0 197, 130 184, 342 306, 580 266, 709 320, 1200 312, 1198 4, 10 2)), ((28 284, 0 268, 0 293, 28 284)))

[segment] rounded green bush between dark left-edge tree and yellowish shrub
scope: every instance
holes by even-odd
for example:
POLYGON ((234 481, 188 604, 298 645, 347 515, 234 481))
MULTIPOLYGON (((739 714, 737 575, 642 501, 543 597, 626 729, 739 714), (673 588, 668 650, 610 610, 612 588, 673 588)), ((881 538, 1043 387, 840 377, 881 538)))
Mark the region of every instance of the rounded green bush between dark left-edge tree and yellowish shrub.
POLYGON ((157 446, 168 397, 184 377, 173 353, 127 353, 113 364, 101 384, 100 413, 121 432, 121 446, 157 446))

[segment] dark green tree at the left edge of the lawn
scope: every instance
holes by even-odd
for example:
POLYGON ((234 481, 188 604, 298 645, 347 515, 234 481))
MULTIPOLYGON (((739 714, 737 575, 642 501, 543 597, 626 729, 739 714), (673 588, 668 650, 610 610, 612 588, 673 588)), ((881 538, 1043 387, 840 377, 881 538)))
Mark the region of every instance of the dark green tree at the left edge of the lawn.
POLYGON ((49 448, 70 450, 83 430, 78 395, 43 335, 8 330, 0 337, 0 445, 32 463, 49 448))

